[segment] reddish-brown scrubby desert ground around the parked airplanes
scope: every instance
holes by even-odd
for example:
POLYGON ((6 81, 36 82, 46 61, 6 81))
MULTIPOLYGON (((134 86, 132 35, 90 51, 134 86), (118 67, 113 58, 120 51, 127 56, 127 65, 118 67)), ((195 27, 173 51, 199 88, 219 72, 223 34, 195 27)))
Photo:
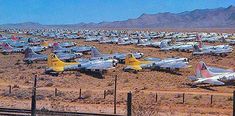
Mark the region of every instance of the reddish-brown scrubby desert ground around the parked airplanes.
MULTIPOLYGON (((10 35, 9 33, 1 33, 10 35)), ((45 74, 46 61, 38 61, 27 64, 23 61, 24 54, 12 53, 8 55, 0 54, 0 86, 1 86, 1 106, 15 108, 30 108, 31 87, 33 77, 38 78, 38 101, 37 107, 83 112, 106 112, 112 113, 112 99, 114 89, 114 76, 117 75, 117 112, 126 112, 126 93, 133 93, 134 104, 143 105, 143 110, 150 113, 156 111, 160 114, 174 115, 231 115, 232 113, 232 92, 235 88, 234 81, 217 86, 213 84, 194 83, 188 79, 195 75, 195 69, 200 61, 204 61, 208 66, 233 69, 235 67, 235 52, 227 56, 218 55, 197 55, 192 52, 180 51, 160 51, 160 48, 137 46, 137 45, 118 45, 100 44, 99 42, 86 42, 85 39, 55 39, 49 37, 39 37, 29 34, 13 34, 14 36, 47 38, 48 43, 73 41, 77 46, 87 45, 96 47, 101 53, 130 53, 141 52, 146 57, 184 57, 189 59, 188 68, 180 68, 176 73, 170 71, 158 71, 143 69, 138 72, 126 72, 123 63, 118 63, 104 74, 104 78, 98 78, 86 73, 77 71, 64 71, 58 76, 45 74), (9 94, 9 85, 12 86, 12 93, 9 94), (58 95, 54 96, 54 89, 58 89, 58 95), (78 99, 79 89, 82 89, 84 99, 78 99), (104 90, 110 93, 103 98, 104 90), (156 102, 156 93, 158 101, 156 102), (185 93, 185 103, 181 103, 182 94, 185 93), (210 104, 210 95, 214 95, 213 105, 210 104), (20 104, 19 104, 20 103, 20 104), (148 105, 151 104, 151 107, 148 105), (152 105, 154 104, 154 105, 152 105), (153 110, 153 111, 152 111, 153 110)), ((233 35, 234 36, 234 35, 233 35)), ((195 38, 195 37, 194 37, 195 38)), ((162 40, 162 38, 160 37, 162 40)), ((156 39, 158 40, 158 39, 156 39)), ((208 43, 207 45, 223 45, 223 42, 208 43)), ((232 46, 234 49, 234 46, 232 46)), ((48 48, 42 54, 50 54, 52 48, 48 48)), ((84 54, 83 58, 91 57, 91 53, 84 54)), ((151 115, 151 114, 150 114, 151 115)))

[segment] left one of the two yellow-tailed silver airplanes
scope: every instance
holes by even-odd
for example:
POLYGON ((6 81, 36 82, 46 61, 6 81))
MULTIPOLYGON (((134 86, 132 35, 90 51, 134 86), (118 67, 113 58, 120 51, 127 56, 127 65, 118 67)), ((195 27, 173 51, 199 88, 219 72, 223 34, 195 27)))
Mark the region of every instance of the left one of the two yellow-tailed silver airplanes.
POLYGON ((98 73, 103 77, 103 74, 112 68, 115 68, 114 60, 89 60, 87 62, 63 62, 55 54, 50 54, 48 57, 48 68, 45 70, 47 74, 58 75, 64 71, 85 71, 88 73, 98 73))

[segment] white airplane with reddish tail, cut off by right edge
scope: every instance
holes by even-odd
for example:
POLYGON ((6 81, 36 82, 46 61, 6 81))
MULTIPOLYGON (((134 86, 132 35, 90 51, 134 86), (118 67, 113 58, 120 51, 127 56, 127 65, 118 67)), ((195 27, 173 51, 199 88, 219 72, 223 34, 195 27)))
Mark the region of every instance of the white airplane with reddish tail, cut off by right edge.
POLYGON ((207 67, 204 62, 199 62, 196 67, 195 76, 189 79, 194 84, 212 84, 225 85, 225 82, 235 80, 235 72, 229 69, 221 69, 216 67, 207 67))

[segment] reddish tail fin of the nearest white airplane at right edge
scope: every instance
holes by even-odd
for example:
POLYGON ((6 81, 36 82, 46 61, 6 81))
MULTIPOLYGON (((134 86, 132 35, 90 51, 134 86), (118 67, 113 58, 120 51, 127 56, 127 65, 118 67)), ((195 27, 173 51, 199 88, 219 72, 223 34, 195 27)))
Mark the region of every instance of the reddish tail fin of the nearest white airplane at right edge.
POLYGON ((209 78, 212 76, 212 73, 208 70, 207 65, 203 61, 197 64, 195 72, 197 78, 209 78))

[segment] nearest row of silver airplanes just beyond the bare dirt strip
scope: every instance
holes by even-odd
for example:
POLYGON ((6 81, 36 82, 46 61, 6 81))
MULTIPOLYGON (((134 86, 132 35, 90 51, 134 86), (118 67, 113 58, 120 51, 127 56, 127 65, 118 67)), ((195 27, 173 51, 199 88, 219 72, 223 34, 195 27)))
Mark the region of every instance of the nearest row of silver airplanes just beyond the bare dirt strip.
POLYGON ((230 45, 204 45, 201 36, 197 35, 194 38, 194 42, 176 42, 173 39, 163 39, 161 41, 153 41, 152 39, 130 39, 126 38, 104 38, 104 37, 88 37, 86 42, 98 41, 100 44, 113 44, 118 45, 131 45, 135 44, 136 46, 148 46, 160 48, 160 51, 183 51, 183 52, 192 52, 193 55, 218 55, 226 56, 233 51, 232 46, 230 45))

